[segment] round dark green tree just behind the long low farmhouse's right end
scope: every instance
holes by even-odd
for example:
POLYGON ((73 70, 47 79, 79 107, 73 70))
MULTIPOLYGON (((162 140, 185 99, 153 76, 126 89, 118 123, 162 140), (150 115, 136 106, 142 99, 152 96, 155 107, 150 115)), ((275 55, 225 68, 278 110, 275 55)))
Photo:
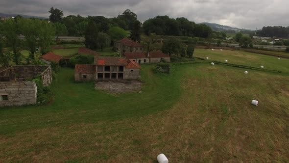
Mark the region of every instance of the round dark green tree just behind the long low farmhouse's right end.
POLYGON ((165 41, 162 47, 162 51, 165 54, 178 54, 179 49, 180 49, 180 41, 176 38, 169 38, 169 40, 165 41))

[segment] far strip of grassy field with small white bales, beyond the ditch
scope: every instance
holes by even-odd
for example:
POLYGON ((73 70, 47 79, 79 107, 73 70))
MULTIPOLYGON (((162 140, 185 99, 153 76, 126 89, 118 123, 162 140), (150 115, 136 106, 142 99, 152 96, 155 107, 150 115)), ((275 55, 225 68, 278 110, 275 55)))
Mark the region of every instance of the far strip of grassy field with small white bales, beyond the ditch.
POLYGON ((195 49, 194 56, 210 58, 208 61, 220 61, 224 62, 225 59, 228 63, 239 64, 245 66, 251 66, 260 68, 265 66, 264 69, 278 70, 289 73, 289 59, 282 58, 281 60, 275 56, 268 56, 262 54, 247 53, 242 51, 230 51, 230 50, 208 50, 208 49, 195 49))

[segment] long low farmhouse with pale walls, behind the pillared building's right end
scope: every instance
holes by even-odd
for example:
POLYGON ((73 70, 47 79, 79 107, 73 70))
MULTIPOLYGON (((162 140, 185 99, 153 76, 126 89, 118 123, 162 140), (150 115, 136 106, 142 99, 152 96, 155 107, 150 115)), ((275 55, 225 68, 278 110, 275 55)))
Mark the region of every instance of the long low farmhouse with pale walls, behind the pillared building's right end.
POLYGON ((162 61, 170 62, 170 57, 161 51, 152 52, 125 52, 127 59, 132 59, 137 63, 160 63, 162 61))

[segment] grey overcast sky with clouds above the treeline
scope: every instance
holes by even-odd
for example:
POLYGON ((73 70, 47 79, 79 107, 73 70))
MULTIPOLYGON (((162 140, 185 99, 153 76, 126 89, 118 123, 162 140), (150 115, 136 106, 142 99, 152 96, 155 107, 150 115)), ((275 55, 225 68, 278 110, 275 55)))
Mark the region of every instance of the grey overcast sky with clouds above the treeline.
POLYGON ((48 17, 53 6, 64 15, 116 17, 125 9, 140 21, 157 15, 231 27, 289 26, 289 0, 0 0, 0 12, 48 17))

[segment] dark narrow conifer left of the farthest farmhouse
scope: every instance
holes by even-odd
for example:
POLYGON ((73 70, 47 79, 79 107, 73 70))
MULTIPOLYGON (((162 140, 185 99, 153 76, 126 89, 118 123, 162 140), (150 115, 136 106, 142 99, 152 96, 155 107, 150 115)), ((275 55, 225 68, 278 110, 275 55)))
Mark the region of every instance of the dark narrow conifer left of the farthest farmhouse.
POLYGON ((96 24, 91 21, 85 30, 85 47, 89 49, 97 49, 98 28, 96 24))

